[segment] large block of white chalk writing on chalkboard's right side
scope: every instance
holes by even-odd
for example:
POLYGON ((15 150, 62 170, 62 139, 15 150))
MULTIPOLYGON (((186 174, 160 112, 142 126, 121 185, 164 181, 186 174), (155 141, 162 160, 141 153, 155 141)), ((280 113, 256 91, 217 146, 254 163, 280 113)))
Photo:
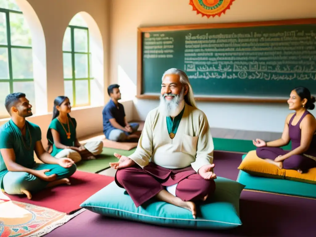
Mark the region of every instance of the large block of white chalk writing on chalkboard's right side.
POLYGON ((183 40, 190 79, 316 80, 313 31, 188 33, 183 40))

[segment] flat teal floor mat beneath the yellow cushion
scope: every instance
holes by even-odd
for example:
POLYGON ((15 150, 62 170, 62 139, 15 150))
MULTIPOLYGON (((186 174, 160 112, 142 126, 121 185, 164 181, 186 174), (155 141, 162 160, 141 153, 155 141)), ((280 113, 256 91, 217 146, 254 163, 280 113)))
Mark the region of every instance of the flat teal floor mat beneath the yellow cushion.
POLYGON ((316 198, 316 184, 302 183, 288 179, 259 177, 242 170, 239 171, 237 182, 245 185, 245 189, 249 190, 316 198))

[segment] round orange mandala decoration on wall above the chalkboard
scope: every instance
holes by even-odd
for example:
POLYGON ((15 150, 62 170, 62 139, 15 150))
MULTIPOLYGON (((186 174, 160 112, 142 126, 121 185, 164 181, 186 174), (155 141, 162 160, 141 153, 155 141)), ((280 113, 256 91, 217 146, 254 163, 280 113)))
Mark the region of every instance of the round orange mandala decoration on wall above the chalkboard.
POLYGON ((202 17, 220 16, 222 13, 230 8, 235 0, 190 0, 190 5, 193 7, 193 11, 197 14, 201 14, 202 17))

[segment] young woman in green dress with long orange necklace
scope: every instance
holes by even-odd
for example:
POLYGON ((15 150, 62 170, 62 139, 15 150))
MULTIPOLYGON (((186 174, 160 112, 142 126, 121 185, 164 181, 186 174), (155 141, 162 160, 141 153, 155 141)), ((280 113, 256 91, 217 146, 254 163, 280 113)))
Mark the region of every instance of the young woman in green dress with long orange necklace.
POLYGON ((81 160, 95 159, 102 152, 102 141, 87 142, 82 145, 76 136, 76 119, 70 117, 70 101, 66 96, 58 96, 54 100, 53 118, 48 127, 48 149, 56 158, 68 157, 75 163, 81 160))

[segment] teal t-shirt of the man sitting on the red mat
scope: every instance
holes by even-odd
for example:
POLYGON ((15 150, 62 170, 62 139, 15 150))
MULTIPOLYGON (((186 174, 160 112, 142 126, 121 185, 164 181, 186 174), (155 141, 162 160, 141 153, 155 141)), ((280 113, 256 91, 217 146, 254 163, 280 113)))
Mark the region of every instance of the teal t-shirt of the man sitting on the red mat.
MULTIPOLYGON (((0 149, 13 149, 15 162, 27 168, 33 168, 35 143, 42 139, 40 127, 28 121, 25 122, 26 136, 23 137, 20 129, 10 119, 0 127, 0 149)), ((0 152, 0 186, 3 176, 8 172, 0 152)))

